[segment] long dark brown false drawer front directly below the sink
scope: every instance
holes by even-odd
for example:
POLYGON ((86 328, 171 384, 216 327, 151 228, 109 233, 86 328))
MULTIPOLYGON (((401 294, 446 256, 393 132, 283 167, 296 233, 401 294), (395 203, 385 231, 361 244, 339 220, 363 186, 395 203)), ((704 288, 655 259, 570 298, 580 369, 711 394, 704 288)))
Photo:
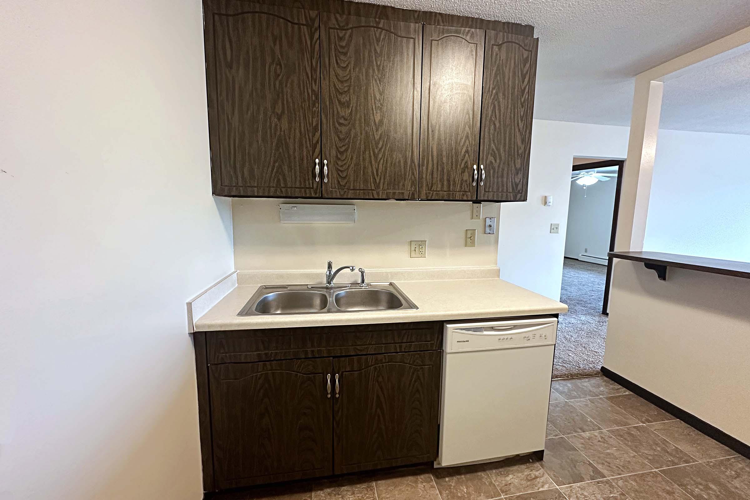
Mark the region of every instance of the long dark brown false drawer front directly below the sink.
POLYGON ((440 349, 441 322, 312 328, 268 328, 206 333, 208 363, 347 356, 440 349))

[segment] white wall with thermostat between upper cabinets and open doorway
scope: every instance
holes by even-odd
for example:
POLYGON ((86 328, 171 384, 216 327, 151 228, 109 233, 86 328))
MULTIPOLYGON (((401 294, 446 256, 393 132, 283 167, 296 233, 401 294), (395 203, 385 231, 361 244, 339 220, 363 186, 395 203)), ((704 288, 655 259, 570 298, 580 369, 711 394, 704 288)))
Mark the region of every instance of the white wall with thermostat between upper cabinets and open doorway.
POLYGON ((571 161, 622 158, 627 147, 628 127, 534 120, 529 201, 502 204, 498 224, 503 280, 559 300, 571 161), (554 196, 553 206, 542 205, 544 195, 554 196), (550 234, 550 223, 560 224, 559 234, 550 234))

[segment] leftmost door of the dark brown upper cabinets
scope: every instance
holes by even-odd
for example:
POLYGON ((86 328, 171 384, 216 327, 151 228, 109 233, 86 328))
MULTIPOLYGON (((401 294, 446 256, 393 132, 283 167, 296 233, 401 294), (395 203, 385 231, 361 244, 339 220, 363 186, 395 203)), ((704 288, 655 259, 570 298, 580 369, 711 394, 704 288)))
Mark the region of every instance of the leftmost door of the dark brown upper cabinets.
POLYGON ((320 196, 318 13, 203 5, 214 194, 320 196))

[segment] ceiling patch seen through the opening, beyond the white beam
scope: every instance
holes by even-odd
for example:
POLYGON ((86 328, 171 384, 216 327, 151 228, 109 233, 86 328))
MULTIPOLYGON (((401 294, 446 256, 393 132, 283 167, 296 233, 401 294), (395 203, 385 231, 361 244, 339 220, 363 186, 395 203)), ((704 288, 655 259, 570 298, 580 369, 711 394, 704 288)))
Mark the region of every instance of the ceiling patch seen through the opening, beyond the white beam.
POLYGON ((750 51, 665 82, 659 128, 750 135, 750 51))

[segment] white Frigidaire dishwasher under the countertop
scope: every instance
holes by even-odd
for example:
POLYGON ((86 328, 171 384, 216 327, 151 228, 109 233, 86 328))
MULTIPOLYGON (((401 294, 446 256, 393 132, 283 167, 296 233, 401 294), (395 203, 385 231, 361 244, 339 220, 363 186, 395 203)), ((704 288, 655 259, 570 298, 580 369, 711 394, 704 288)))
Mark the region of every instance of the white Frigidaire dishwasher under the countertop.
POLYGON ((557 319, 446 323, 436 467, 544 451, 557 319))

